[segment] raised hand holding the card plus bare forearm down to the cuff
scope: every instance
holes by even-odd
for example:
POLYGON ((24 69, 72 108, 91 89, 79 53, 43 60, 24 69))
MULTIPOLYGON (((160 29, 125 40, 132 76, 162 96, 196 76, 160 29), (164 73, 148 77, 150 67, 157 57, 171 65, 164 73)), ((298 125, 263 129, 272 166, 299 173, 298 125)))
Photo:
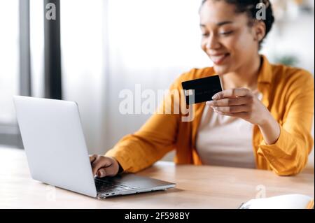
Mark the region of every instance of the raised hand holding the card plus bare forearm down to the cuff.
POLYGON ((267 144, 274 144, 280 136, 280 125, 262 102, 246 88, 228 89, 215 94, 208 101, 216 113, 240 117, 258 125, 267 144))

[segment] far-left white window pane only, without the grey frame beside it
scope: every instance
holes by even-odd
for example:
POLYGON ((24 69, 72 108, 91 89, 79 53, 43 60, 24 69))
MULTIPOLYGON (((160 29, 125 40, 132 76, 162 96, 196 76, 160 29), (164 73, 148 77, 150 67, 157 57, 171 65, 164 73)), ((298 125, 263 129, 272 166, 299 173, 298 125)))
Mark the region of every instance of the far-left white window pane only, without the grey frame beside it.
POLYGON ((19 1, 1 0, 0 126, 15 123, 12 96, 19 93, 19 1))

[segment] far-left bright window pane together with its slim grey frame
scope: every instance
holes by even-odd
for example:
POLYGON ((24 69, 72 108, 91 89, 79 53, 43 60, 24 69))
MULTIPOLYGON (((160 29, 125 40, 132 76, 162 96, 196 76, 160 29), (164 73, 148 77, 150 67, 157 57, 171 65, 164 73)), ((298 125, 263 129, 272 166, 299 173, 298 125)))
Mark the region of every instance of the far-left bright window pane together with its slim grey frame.
POLYGON ((29 0, 0 3, 0 144, 22 148, 13 96, 30 94, 29 0))

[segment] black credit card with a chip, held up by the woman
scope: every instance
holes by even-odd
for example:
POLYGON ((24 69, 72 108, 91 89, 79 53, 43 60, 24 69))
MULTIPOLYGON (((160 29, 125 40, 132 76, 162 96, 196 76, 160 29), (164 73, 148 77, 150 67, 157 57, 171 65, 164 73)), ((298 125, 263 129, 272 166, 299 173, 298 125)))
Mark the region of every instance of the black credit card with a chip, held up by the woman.
POLYGON ((222 92, 221 81, 218 75, 182 82, 186 96, 186 104, 212 101, 212 96, 222 92))

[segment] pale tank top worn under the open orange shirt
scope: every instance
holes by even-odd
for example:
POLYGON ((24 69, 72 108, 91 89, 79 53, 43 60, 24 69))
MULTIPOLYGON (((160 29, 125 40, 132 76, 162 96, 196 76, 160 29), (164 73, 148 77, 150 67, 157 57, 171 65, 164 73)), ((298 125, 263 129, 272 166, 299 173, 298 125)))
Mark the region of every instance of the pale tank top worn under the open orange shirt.
MULTIPOLYGON (((260 92, 255 96, 262 99, 260 92)), ((252 142, 253 124, 204 108, 196 139, 202 164, 255 168, 252 142)))

